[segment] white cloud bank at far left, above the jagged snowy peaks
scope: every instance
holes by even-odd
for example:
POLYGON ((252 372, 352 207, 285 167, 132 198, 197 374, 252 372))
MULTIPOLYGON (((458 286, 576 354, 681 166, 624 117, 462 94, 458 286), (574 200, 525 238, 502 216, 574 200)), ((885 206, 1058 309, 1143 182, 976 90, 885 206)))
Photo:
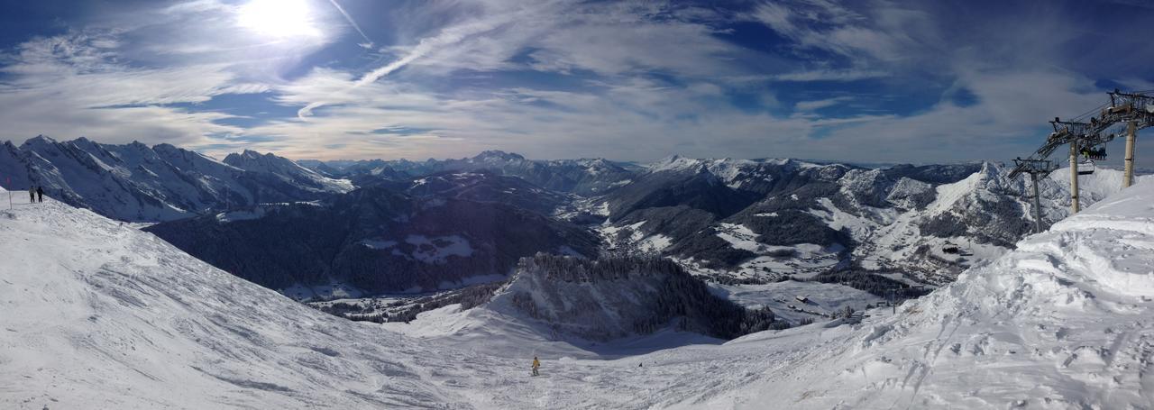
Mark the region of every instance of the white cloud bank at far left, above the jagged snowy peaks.
POLYGON ((261 92, 262 84, 237 84, 222 65, 130 68, 115 64, 115 42, 74 33, 24 43, 14 64, 0 72, 0 124, 7 139, 38 134, 196 142, 205 135, 238 133, 217 121, 232 115, 162 106, 201 103, 226 92, 261 92))

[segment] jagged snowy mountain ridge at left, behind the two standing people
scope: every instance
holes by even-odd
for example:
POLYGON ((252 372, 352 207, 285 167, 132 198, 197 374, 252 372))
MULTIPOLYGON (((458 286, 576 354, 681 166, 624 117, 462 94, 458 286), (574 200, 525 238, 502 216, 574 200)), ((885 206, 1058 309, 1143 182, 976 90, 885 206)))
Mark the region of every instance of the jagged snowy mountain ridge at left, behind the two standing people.
POLYGON ((219 162, 170 144, 102 144, 46 136, 0 144, 0 184, 132 222, 186 218, 265 202, 312 201, 352 189, 286 158, 246 151, 219 162))

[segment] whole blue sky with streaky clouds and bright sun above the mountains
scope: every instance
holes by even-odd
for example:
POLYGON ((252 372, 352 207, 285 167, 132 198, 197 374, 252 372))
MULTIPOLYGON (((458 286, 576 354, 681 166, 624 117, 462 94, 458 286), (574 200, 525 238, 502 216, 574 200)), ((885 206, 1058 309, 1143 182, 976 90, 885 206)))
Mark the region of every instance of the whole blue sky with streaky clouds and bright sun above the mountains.
POLYGON ((1009 159, 1109 90, 1154 89, 1141 0, 0 1, 17 144, 1009 159))

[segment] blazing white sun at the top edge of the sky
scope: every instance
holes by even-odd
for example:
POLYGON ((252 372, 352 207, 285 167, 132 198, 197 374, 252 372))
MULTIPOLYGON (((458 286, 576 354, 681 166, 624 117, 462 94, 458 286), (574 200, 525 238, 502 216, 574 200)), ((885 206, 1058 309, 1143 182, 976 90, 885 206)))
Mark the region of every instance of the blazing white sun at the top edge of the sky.
POLYGON ((240 7, 237 23, 262 36, 319 37, 306 0, 252 0, 240 7))

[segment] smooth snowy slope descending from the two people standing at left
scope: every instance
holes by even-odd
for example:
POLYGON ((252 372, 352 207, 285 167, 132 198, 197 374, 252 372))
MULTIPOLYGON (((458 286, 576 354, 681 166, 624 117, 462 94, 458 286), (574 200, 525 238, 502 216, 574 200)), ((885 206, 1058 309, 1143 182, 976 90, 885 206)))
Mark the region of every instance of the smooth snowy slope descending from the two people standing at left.
POLYGON ((0 211, 0 408, 467 408, 398 334, 47 200, 0 211))

